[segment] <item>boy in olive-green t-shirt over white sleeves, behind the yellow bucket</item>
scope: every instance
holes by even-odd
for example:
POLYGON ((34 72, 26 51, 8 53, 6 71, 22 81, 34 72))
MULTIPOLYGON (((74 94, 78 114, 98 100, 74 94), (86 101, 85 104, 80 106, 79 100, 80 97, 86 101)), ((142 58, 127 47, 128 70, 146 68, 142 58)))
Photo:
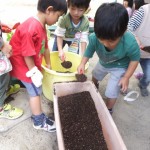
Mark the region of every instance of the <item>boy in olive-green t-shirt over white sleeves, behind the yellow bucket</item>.
POLYGON ((79 43, 83 54, 88 42, 89 21, 84 16, 90 0, 67 0, 69 13, 63 16, 55 30, 53 51, 59 51, 59 57, 65 60, 63 47, 70 46, 69 51, 79 54, 79 43))

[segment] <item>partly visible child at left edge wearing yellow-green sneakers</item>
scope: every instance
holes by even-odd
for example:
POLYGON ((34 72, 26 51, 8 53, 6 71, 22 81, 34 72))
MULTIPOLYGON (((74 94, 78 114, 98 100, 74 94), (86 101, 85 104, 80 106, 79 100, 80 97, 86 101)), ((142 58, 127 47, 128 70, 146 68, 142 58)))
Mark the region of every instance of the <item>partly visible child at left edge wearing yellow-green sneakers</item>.
MULTIPOLYGON (((3 41, 2 38, 2 29, 0 23, 0 55, 5 55, 9 58, 12 54, 11 46, 3 41)), ((7 118, 7 119, 17 119, 23 115, 23 110, 13 107, 10 104, 4 104, 6 98, 16 93, 20 90, 20 86, 16 85, 9 85, 10 83, 10 75, 9 72, 3 72, 3 60, 0 57, 0 118, 7 118), (16 88, 18 87, 18 88, 16 88)))

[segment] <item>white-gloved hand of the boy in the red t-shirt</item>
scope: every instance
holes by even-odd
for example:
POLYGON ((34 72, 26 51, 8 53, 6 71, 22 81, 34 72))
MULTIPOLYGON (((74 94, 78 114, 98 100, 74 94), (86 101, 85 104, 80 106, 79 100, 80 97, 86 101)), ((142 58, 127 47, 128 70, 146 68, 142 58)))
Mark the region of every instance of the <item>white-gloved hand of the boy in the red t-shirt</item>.
POLYGON ((42 85, 43 75, 36 66, 29 70, 26 73, 26 76, 31 77, 31 80, 36 87, 40 87, 42 85))

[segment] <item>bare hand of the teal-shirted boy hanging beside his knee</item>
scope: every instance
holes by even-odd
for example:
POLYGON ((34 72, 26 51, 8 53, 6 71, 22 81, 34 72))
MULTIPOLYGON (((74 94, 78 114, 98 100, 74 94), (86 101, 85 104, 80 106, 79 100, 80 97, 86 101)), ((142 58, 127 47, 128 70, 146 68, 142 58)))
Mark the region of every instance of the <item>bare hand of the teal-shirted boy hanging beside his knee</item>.
POLYGON ((127 91, 129 85, 129 79, 127 77, 122 77, 119 81, 119 86, 121 86, 121 91, 124 93, 127 91))

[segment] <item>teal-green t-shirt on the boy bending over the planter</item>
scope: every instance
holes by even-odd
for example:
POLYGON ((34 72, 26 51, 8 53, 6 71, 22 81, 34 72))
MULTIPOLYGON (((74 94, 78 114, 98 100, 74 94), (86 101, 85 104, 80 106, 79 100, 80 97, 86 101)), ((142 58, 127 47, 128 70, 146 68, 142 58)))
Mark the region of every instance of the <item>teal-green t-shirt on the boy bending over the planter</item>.
POLYGON ((125 32, 112 51, 106 50, 95 33, 91 34, 84 56, 91 58, 94 52, 97 53, 100 64, 106 68, 127 68, 130 61, 140 60, 140 48, 130 32, 125 32))

